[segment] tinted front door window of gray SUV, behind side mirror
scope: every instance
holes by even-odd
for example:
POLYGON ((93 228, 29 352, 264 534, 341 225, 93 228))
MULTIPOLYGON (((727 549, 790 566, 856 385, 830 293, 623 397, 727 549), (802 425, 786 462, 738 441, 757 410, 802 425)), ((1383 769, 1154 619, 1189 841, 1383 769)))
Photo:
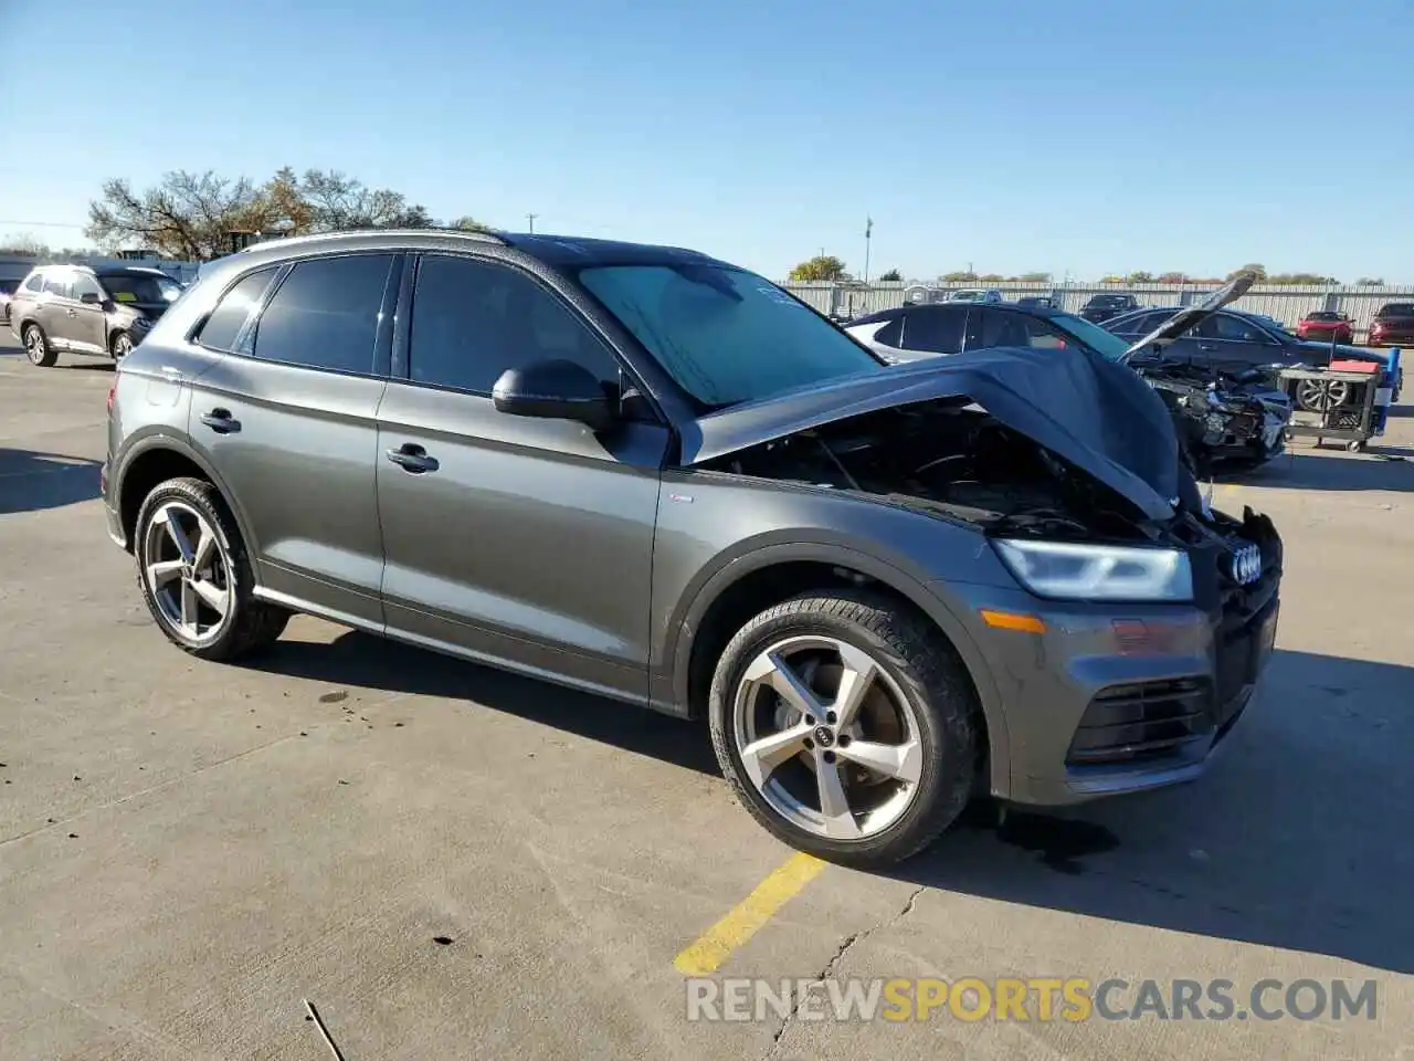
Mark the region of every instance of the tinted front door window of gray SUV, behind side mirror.
POLYGON ((414 381, 491 393, 508 368, 551 358, 619 382, 608 348, 530 277, 465 257, 421 260, 407 359, 414 381))

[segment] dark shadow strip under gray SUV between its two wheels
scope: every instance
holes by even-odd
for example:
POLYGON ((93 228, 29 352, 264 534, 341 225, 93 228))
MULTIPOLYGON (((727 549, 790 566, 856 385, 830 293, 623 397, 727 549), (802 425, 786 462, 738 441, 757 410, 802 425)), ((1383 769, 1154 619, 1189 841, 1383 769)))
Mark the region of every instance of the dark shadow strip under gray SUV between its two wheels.
POLYGON ((329 683, 472 700, 700 774, 721 772, 703 723, 670 719, 646 707, 536 682, 370 634, 349 631, 332 644, 277 641, 269 652, 243 665, 329 683))

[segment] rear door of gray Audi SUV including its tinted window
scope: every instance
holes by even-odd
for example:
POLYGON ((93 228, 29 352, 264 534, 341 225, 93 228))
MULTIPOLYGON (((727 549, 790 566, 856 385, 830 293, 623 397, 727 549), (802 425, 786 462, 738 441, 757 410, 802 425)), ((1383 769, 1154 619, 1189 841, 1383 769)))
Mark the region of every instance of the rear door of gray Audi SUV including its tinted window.
POLYGON ((263 593, 373 628, 375 414, 400 267, 349 253, 245 276, 197 337, 225 356, 191 381, 189 434, 239 509, 263 593))

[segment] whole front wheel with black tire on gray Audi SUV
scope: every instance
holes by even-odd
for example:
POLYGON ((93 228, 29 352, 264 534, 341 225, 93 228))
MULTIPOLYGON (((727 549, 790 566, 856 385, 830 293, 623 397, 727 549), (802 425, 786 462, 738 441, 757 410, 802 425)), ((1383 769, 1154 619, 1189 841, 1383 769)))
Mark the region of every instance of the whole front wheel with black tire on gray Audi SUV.
POLYGON ((922 617, 831 590, 756 615, 708 705, 737 799, 792 847, 858 869, 930 845, 973 792, 977 696, 922 617))

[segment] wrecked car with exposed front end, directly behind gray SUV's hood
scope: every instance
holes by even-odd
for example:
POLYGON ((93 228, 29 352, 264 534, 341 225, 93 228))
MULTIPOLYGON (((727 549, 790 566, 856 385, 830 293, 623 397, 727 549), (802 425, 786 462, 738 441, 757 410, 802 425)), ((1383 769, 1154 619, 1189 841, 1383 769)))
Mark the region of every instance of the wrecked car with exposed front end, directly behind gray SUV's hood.
MULTIPOLYGON (((861 317, 846 331, 891 364, 997 347, 1049 351, 1073 345, 1123 364, 1130 348, 1075 314, 1019 304, 904 306, 861 317)), ((1263 373, 1232 375, 1159 356, 1130 368, 1164 399, 1196 472, 1206 474, 1222 461, 1256 467, 1285 448, 1291 402, 1263 373)))

